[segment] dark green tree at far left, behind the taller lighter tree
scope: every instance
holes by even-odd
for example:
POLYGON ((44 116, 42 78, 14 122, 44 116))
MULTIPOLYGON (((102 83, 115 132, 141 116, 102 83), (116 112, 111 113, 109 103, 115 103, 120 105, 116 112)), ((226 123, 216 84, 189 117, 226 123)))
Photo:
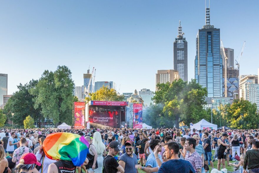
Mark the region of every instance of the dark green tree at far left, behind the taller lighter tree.
POLYGON ((11 96, 4 107, 4 113, 6 116, 19 126, 23 125, 23 121, 21 120, 24 120, 27 115, 31 115, 35 120, 38 120, 38 122, 43 118, 41 109, 34 109, 33 99, 35 96, 29 93, 29 90, 35 88, 37 84, 38 80, 34 79, 24 85, 20 83, 17 86, 19 90, 11 96), (11 113, 14 113, 13 118, 11 113))

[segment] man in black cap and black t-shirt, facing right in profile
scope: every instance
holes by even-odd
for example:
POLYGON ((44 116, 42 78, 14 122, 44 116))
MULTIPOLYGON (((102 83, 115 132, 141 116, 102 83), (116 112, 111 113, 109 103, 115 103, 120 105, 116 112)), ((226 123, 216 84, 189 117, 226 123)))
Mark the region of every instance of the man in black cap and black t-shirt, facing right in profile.
POLYGON ((119 165, 116 159, 114 159, 114 156, 116 156, 120 150, 122 149, 119 146, 118 141, 109 143, 109 152, 103 160, 104 173, 117 173, 118 171, 124 173, 123 167, 119 165))

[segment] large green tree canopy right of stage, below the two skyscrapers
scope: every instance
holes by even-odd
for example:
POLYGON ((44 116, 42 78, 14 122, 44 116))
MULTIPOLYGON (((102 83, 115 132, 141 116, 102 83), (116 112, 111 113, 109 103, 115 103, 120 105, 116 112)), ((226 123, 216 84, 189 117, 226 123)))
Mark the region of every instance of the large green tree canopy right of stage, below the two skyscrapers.
MULTIPOLYGON (((171 84, 169 82, 157 84, 157 91, 155 91, 153 100, 156 104, 162 106, 162 112, 159 115, 154 115, 153 118, 160 122, 160 126, 170 121, 170 126, 175 125, 176 128, 179 128, 180 121, 189 124, 191 122, 196 123, 202 118, 209 120, 208 111, 203 109, 204 104, 206 104, 205 96, 207 96, 207 89, 197 84, 195 79, 192 79, 189 83, 179 79, 171 84), (163 121, 160 121, 161 119, 163 121)), ((147 113, 144 113, 144 115, 147 115, 147 113)), ((152 113, 149 114, 153 115, 152 113)))

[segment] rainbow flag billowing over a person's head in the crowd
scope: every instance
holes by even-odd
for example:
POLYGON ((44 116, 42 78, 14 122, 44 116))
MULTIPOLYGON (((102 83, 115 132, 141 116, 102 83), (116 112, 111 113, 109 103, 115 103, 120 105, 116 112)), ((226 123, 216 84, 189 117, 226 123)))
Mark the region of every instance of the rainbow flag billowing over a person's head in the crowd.
POLYGON ((43 150, 52 160, 72 161, 81 166, 89 152, 89 143, 84 137, 73 133, 52 133, 43 142, 43 150))

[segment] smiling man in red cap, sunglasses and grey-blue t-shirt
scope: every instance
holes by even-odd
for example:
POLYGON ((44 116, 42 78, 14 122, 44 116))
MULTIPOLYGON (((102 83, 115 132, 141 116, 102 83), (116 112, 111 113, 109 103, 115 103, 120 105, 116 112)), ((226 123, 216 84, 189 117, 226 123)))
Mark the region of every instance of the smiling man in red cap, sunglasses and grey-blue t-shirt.
POLYGON ((119 157, 119 165, 123 167, 124 173, 137 173, 135 164, 137 164, 137 155, 133 152, 134 146, 131 140, 125 143, 126 152, 119 157))

